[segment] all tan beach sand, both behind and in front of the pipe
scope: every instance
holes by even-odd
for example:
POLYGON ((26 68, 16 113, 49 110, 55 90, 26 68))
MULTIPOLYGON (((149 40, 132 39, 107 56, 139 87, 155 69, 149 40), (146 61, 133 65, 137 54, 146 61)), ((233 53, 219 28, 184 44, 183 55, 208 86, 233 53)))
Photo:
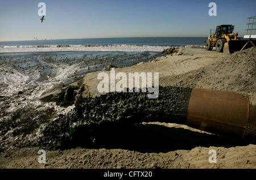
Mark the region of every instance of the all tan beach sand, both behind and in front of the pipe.
MULTIPOLYGON (((159 72, 159 85, 162 87, 235 91, 249 95, 250 101, 256 104, 255 54, 255 48, 224 54, 214 50, 209 52, 200 46, 180 47, 174 54, 133 66, 117 67, 115 72, 159 72)), ((73 83, 76 92, 73 95, 76 97, 73 97, 72 102, 80 103, 77 97, 94 98, 101 95, 97 91, 100 81, 97 79, 98 73, 90 72, 80 83, 73 83)), ((51 87, 46 90, 51 93, 62 88, 51 87)), ((72 89, 72 86, 68 88, 72 89)), ((15 95, 13 100, 16 96, 20 95, 15 95)), ((39 94, 34 98, 41 96, 39 94)), ((1 96, 1 101, 7 104, 12 100, 1 96)), ((55 102, 44 103, 51 104, 43 113, 43 117, 49 116, 49 119, 56 119, 60 113, 67 113, 75 106, 61 109, 55 102)), ((38 130, 38 133, 41 131, 38 130)), ((47 149, 46 164, 38 162, 37 152, 41 147, 23 144, 21 148, 1 152, 0 168, 256 168, 255 142, 218 136, 187 125, 163 122, 162 119, 140 123, 133 127, 132 132, 129 138, 124 136, 123 142, 113 147, 47 149), (210 149, 217 152, 216 164, 208 161, 210 149)), ((115 144, 115 140, 109 139, 106 144, 115 144)))

